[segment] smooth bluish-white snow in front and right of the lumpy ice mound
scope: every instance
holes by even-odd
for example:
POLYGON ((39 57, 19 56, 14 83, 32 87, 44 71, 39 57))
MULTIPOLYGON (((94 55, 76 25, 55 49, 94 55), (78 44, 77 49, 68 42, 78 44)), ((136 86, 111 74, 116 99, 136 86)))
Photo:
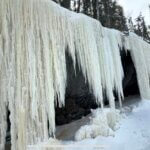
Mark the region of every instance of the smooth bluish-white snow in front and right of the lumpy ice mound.
POLYGON ((65 142, 65 150, 150 150, 150 100, 125 104, 126 117, 114 137, 99 136, 80 142, 65 142))

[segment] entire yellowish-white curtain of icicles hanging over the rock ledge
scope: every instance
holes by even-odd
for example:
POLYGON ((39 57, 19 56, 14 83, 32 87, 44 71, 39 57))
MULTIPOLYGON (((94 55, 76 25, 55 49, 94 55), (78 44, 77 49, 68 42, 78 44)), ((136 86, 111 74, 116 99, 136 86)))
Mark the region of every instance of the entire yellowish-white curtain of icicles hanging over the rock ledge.
POLYGON ((115 111, 123 98, 120 47, 130 50, 141 96, 150 98, 150 45, 134 34, 107 29, 51 0, 0 1, 0 149, 10 111, 12 150, 55 133, 55 104, 65 105, 66 58, 76 61, 103 108, 103 91, 115 111))

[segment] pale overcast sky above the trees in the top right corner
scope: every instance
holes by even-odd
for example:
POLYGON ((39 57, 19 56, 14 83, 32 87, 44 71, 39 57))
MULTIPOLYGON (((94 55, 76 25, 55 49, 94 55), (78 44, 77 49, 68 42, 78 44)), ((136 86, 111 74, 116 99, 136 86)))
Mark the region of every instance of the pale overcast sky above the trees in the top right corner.
POLYGON ((120 5, 123 6, 125 16, 135 19, 140 12, 145 17, 146 23, 150 25, 150 11, 148 5, 150 0, 117 0, 120 5))

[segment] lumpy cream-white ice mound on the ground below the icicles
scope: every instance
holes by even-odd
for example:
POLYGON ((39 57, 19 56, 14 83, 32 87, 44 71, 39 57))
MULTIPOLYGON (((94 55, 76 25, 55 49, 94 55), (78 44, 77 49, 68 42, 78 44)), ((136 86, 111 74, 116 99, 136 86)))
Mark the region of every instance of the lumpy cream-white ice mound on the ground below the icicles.
POLYGON ((113 136, 116 124, 120 120, 119 110, 101 109, 92 111, 92 118, 88 125, 82 126, 75 135, 75 140, 80 141, 86 138, 101 136, 113 136))

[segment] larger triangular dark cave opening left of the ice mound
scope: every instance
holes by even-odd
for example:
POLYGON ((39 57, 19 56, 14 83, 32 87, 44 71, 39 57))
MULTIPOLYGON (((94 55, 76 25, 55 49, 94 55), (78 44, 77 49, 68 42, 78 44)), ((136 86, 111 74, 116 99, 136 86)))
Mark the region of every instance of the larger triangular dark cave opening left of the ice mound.
POLYGON ((63 125, 81 119, 83 116, 88 115, 91 109, 98 107, 82 71, 79 69, 78 64, 76 65, 76 71, 74 70, 73 61, 67 52, 66 68, 67 87, 65 107, 59 108, 56 106, 56 125, 63 125))

